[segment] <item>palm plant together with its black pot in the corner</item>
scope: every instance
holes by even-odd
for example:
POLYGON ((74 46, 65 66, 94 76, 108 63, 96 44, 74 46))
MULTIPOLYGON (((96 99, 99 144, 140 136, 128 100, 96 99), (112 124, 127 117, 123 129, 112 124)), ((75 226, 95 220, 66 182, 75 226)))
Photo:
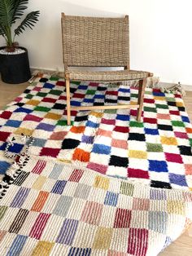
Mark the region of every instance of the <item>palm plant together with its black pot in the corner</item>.
POLYGON ((27 4, 28 0, 0 0, 0 36, 7 44, 0 47, 0 72, 3 82, 27 82, 31 77, 28 51, 15 42, 15 37, 24 33, 25 29, 33 29, 38 21, 40 11, 31 11, 18 25, 27 4))

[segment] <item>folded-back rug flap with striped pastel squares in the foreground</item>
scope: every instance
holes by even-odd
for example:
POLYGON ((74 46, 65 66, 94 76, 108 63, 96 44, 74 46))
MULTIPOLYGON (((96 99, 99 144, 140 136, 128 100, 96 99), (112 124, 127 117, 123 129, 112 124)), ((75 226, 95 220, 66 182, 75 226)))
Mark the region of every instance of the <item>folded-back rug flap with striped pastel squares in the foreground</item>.
POLYGON ((191 223, 192 193, 31 157, 0 219, 1 256, 155 256, 191 223))

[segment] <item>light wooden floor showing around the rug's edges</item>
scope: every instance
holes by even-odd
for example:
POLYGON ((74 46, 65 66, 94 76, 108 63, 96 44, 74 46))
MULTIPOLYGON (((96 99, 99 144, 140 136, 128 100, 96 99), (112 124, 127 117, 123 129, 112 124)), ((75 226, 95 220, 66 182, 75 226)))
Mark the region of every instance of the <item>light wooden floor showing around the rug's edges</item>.
MULTIPOLYGON (((0 109, 6 104, 10 103, 15 99, 16 96, 20 95, 24 89, 28 86, 28 83, 20 85, 5 84, 0 81, 0 109)), ((187 113, 189 114, 190 120, 192 121, 192 91, 186 91, 185 106, 187 113)), ((177 241, 174 241, 172 245, 169 245, 160 256, 191 256, 192 255, 192 226, 190 229, 185 231, 177 241)))

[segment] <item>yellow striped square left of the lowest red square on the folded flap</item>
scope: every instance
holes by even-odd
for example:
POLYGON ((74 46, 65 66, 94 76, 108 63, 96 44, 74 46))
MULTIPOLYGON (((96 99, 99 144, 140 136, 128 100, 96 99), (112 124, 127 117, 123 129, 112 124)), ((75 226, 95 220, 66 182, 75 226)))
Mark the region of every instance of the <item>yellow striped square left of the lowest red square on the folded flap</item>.
POLYGON ((111 245, 113 228, 98 227, 94 237, 93 249, 109 249, 111 245))

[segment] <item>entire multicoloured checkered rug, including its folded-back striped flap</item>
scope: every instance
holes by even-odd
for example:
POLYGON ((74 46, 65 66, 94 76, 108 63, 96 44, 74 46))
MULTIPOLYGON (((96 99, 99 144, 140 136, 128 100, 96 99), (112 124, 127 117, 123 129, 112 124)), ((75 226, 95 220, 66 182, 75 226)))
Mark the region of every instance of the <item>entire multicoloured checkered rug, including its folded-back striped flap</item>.
MULTIPOLYGON (((71 87, 74 106, 137 102, 135 87, 71 87)), ((181 95, 147 88, 143 122, 74 111, 67 126, 65 103, 63 80, 42 77, 0 113, 1 255, 159 254, 192 222, 181 95)))

